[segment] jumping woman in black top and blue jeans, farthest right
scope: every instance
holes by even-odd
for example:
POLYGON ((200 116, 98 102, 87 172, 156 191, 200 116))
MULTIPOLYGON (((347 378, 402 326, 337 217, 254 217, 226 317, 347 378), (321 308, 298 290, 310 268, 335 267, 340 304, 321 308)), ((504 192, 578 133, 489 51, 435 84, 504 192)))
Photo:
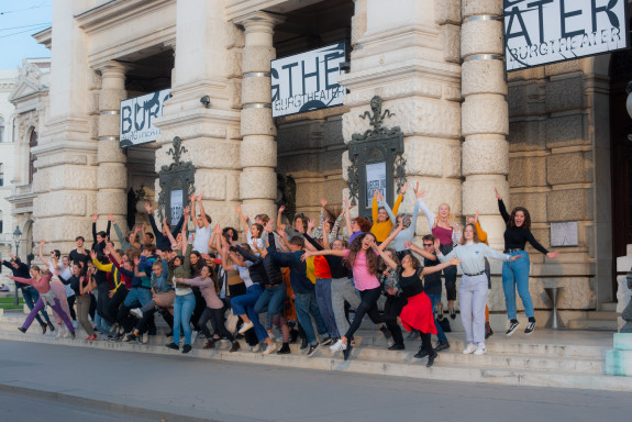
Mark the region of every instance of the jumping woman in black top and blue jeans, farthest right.
POLYGON ((529 293, 529 267, 531 265, 529 260, 529 254, 524 251, 526 242, 531 244, 534 248, 545 254, 548 258, 557 258, 559 256, 558 252, 548 252, 544 246, 542 246, 533 234, 531 233, 531 216, 529 211, 522 207, 515 207, 511 211, 511 215, 507 212, 505 208, 505 202, 502 202, 502 197, 498 193, 498 189, 494 188, 496 191, 496 198, 498 199, 498 209, 500 210, 500 215, 507 224, 505 230, 505 253, 509 255, 520 255, 521 259, 513 262, 508 262, 502 264, 502 289, 505 290, 505 303, 507 306, 507 316, 509 318, 509 327, 507 329, 507 335, 511 335, 515 332, 520 323, 517 319, 515 309, 515 289, 518 288, 518 295, 522 300, 522 306, 524 307, 524 313, 529 318, 526 327, 524 329, 524 334, 533 333, 535 330, 535 316, 533 313, 533 302, 531 301, 531 295, 529 293))

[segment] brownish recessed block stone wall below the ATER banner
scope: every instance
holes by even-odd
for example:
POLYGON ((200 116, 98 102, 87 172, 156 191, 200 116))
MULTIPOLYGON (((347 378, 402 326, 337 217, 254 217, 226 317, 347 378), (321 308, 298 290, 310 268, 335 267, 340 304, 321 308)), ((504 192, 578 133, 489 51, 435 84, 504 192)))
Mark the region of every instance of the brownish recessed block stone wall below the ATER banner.
POLYGON ((562 254, 545 259, 528 245, 532 285, 567 285, 558 308, 576 310, 595 309, 607 296, 595 278, 594 180, 608 169, 595 165, 590 75, 583 68, 583 60, 573 60, 508 74, 510 206, 529 209, 535 237, 562 254), (578 222, 579 245, 551 247, 551 223, 565 221, 578 222))

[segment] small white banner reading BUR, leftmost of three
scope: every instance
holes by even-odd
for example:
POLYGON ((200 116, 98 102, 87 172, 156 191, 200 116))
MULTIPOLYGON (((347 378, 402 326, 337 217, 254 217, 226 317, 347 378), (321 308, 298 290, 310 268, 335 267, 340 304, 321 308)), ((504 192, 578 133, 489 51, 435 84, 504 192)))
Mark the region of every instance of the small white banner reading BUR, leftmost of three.
POLYGON ((155 142, 160 130, 153 121, 163 115, 163 103, 169 98, 164 89, 121 101, 121 148, 155 142))

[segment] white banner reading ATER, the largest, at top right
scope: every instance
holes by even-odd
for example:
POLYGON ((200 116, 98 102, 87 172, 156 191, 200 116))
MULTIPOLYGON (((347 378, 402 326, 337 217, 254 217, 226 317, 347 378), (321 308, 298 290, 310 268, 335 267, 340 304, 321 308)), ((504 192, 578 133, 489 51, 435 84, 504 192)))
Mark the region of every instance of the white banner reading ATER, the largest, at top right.
POLYGON ((627 48, 627 0, 505 0, 507 71, 627 48))

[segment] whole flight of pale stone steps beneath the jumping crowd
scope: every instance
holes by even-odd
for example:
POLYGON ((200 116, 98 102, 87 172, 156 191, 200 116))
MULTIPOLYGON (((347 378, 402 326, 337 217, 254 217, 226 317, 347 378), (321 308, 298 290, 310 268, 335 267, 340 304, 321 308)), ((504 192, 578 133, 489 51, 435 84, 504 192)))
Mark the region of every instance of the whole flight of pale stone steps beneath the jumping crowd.
MULTIPOLYGON (((7 312, 0 316, 0 338, 32 343, 49 343, 65 346, 102 348, 121 352, 151 353, 181 356, 178 352, 167 349, 165 344, 166 326, 158 326, 158 334, 149 337, 149 343, 121 343, 97 341, 85 343, 86 335, 78 331, 77 338, 54 340, 53 334, 40 334, 38 326, 32 326, 26 333, 20 333, 24 315, 7 312)), ((158 318, 162 322, 162 320, 158 318)), ((458 319, 457 319, 458 320, 458 319)), ((597 389, 632 392, 632 377, 605 375, 605 355, 612 347, 612 332, 598 331, 553 331, 537 329, 531 336, 517 333, 506 337, 497 333, 488 340, 488 352, 484 356, 463 355, 465 347, 463 333, 447 334, 452 347, 440 353, 432 368, 426 368, 426 359, 415 359, 414 353, 419 341, 406 341, 404 351, 388 351, 387 341, 381 333, 365 321, 356 334, 356 346, 352 358, 343 360, 341 353, 332 353, 322 347, 308 358, 291 345, 290 355, 248 351, 246 343, 240 341, 242 349, 229 353, 229 343, 219 343, 218 348, 204 351, 204 340, 199 338, 189 354, 202 359, 221 359, 244 364, 278 365, 320 370, 339 370, 356 374, 386 375, 420 379, 436 379, 467 382, 485 382, 508 386, 537 386, 597 389)), ((182 356, 188 358, 188 356, 182 356)))

